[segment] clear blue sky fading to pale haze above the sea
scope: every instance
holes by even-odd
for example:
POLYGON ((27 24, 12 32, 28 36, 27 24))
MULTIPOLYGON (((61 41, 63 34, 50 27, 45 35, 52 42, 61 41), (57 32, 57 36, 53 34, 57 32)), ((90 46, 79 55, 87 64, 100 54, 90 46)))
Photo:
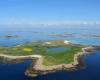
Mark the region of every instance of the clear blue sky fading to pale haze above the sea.
POLYGON ((0 23, 99 22, 100 0, 0 0, 0 23))

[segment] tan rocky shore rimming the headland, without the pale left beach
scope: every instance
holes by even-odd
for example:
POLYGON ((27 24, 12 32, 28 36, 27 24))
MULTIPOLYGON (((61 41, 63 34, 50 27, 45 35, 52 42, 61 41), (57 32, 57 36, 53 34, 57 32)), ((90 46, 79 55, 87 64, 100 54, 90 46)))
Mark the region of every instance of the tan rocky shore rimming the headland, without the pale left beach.
POLYGON ((70 70, 70 71, 76 70, 77 68, 80 68, 81 66, 80 65, 81 63, 79 62, 79 58, 87 54, 90 54, 91 52, 93 52, 93 47, 82 48, 82 52, 75 54, 74 61, 72 63, 53 65, 53 66, 42 65, 43 58, 41 57, 37 59, 33 67, 26 70, 25 75, 29 77, 36 77, 39 75, 46 75, 48 73, 53 73, 53 72, 62 71, 62 70, 70 70))

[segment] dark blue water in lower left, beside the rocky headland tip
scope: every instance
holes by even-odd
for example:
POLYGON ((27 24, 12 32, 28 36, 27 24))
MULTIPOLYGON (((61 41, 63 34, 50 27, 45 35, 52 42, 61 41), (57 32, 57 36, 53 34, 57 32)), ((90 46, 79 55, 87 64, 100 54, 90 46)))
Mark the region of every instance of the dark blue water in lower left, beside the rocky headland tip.
POLYGON ((0 80, 29 80, 24 72, 30 64, 30 60, 18 64, 0 64, 0 80))

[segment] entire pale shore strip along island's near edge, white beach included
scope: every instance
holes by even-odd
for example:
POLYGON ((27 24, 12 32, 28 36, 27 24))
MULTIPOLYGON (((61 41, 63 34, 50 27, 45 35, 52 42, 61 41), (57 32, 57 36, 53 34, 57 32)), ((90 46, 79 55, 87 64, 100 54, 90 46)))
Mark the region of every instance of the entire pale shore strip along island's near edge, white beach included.
POLYGON ((75 70, 79 66, 79 57, 82 57, 84 55, 90 54, 93 51, 94 47, 89 46, 82 48, 81 52, 78 52, 74 55, 73 62, 70 64, 60 64, 60 65, 52 65, 52 66, 45 66, 43 65, 43 57, 41 55, 28 55, 28 56, 10 56, 10 55, 4 55, 0 54, 0 58, 4 59, 11 59, 13 60, 25 60, 25 59, 31 59, 34 60, 32 62, 32 65, 30 68, 28 68, 25 72, 26 76, 29 77, 36 77, 39 75, 45 75, 48 73, 53 73, 61 70, 75 70))

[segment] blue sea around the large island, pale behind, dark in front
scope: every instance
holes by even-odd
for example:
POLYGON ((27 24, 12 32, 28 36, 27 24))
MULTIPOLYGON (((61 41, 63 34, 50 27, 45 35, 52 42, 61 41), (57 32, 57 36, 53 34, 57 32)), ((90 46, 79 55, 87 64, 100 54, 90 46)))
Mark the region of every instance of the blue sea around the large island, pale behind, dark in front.
MULTIPOLYGON (((38 26, 13 27, 0 26, 0 46, 14 46, 37 40, 69 40, 78 44, 100 46, 100 37, 51 37, 49 34, 85 34, 100 35, 99 26, 38 26), (18 38, 4 38, 7 35, 18 35, 18 38)), ((19 64, 0 64, 0 80, 100 80, 100 51, 84 57, 85 69, 77 71, 62 71, 36 78, 24 75, 31 61, 19 64)))

